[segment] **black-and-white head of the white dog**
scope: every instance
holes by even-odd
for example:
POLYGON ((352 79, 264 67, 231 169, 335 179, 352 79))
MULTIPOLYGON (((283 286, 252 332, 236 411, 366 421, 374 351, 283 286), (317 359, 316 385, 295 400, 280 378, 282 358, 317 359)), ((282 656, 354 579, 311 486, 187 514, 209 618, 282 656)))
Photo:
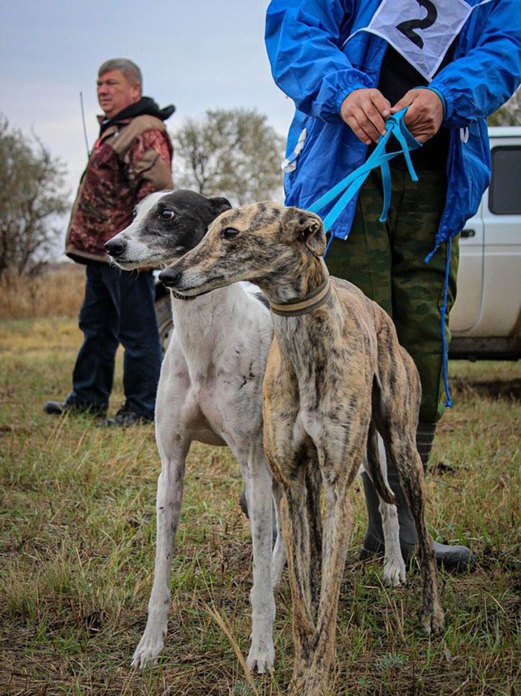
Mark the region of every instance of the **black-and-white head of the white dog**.
POLYGON ((110 258, 125 270, 170 263, 196 247, 221 212, 226 198, 206 198, 195 191, 159 191, 135 208, 132 224, 105 244, 110 258))

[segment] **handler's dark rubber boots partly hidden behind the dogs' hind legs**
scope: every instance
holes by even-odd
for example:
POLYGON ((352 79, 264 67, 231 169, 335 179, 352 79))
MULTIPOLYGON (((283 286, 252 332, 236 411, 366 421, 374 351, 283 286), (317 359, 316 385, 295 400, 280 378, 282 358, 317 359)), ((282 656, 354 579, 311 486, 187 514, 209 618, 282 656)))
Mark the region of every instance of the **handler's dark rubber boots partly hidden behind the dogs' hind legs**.
MULTIPOLYGON (((427 461, 429 460, 430 451, 432 448, 432 440, 434 440, 434 432, 436 431, 436 423, 418 423, 416 433, 416 446, 423 463, 423 470, 427 469, 427 461)), ((399 543, 402 550, 402 556, 407 563, 409 558, 414 553, 416 548, 416 525, 414 524, 413 516, 409 510, 404 492, 399 484, 398 472, 387 458, 387 477, 389 486, 396 496, 396 507, 399 521, 399 543)), ((385 550, 383 542, 383 530, 381 516, 379 512, 379 497, 376 493, 369 476, 362 473, 362 481, 365 491, 365 503, 367 505, 367 531, 365 532, 362 549, 360 550, 360 558, 362 560, 370 558, 375 554, 382 555, 385 550)), ((463 572, 468 570, 474 564, 475 556, 467 546, 447 546, 432 542, 434 553, 436 554, 436 563, 446 570, 454 572, 463 572)))

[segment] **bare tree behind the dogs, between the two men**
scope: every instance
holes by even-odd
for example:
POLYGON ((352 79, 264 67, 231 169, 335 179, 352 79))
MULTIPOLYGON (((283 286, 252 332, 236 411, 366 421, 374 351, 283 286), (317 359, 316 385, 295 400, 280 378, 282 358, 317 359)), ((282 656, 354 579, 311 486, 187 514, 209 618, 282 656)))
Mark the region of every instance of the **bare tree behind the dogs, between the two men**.
POLYGON ((176 184, 235 205, 280 198, 284 138, 254 110, 207 110, 174 134, 176 184))

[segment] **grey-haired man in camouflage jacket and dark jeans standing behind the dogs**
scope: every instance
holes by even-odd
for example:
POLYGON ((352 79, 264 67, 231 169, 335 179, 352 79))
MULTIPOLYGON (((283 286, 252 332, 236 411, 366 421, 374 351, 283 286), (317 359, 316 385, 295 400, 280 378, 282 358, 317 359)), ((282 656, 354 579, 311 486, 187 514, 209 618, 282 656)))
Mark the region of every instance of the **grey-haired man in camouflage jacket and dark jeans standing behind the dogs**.
POLYGON ((125 349, 125 403, 115 419, 130 426, 154 419, 161 345, 154 312, 151 270, 131 273, 110 266, 104 245, 131 222, 133 208, 152 191, 173 187, 173 148, 164 121, 175 108, 160 109, 142 96, 140 68, 131 60, 105 61, 98 71, 100 133, 73 205, 66 254, 87 266, 80 310, 84 334, 64 402, 47 401, 45 412, 91 412, 105 416, 119 343, 125 349))

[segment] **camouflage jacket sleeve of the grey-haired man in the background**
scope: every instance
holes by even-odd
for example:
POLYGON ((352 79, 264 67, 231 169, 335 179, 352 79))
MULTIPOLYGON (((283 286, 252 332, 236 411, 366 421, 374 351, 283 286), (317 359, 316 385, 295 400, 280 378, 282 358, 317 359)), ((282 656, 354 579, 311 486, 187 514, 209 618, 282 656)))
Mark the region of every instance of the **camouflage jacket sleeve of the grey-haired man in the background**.
POLYGON ((129 150, 127 175, 139 203, 154 191, 172 189, 172 146, 166 133, 148 130, 135 138, 129 150))

